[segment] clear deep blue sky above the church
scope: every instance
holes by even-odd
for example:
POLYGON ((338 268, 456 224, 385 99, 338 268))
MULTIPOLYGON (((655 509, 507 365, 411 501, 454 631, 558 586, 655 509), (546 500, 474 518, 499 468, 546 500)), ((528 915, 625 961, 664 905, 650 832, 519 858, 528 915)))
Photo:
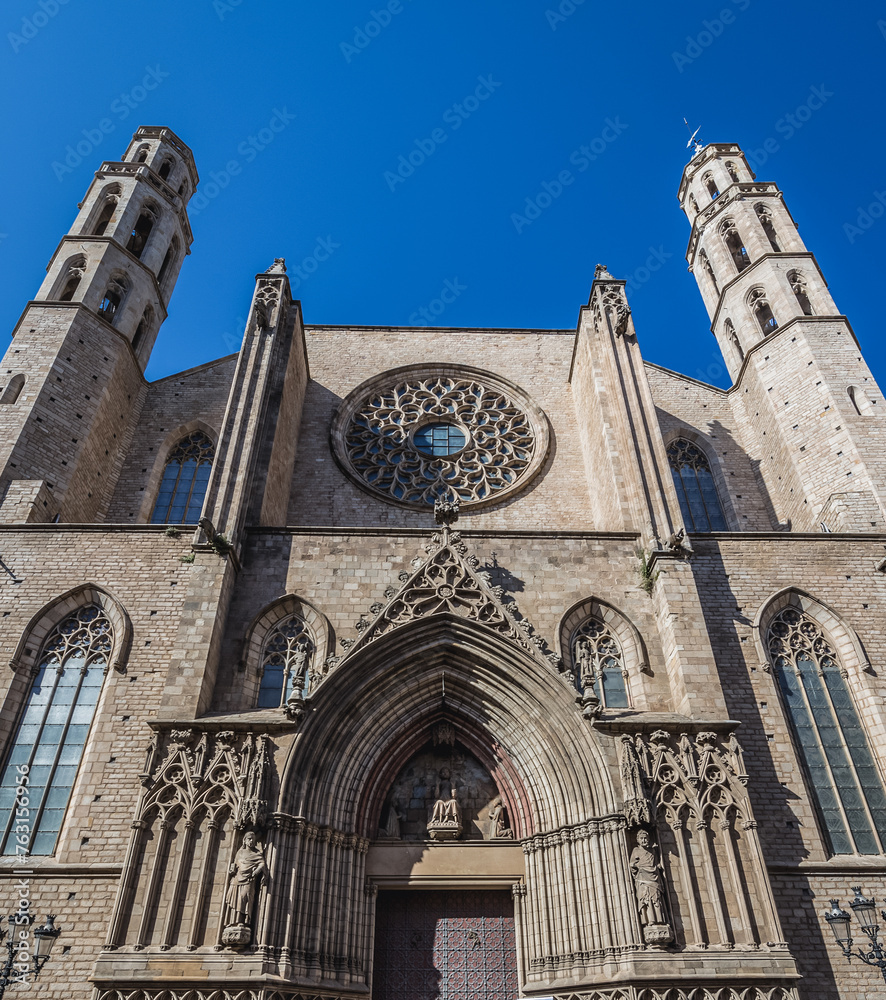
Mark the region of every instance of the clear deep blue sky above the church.
POLYGON ((603 262, 633 277, 648 360, 727 385, 684 259, 685 116, 758 151, 882 383, 881 19, 864 0, 6 0, 2 325, 100 162, 163 124, 205 193, 149 378, 236 350, 282 256, 308 323, 420 325, 447 288, 435 324, 504 328, 574 327, 603 262))

